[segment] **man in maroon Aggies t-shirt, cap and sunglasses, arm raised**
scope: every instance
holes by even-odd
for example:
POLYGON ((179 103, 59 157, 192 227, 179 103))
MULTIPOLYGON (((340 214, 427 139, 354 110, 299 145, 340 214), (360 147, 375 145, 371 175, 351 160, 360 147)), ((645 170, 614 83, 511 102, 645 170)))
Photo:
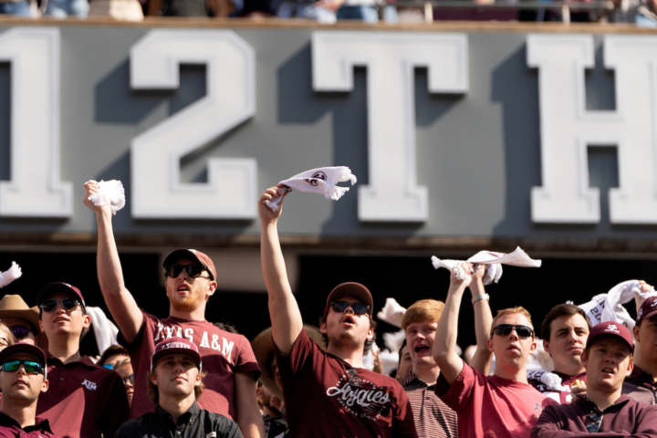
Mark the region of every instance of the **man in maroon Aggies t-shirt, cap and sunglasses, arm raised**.
POLYGON ((344 283, 328 294, 319 330, 323 351, 303 329, 292 295, 273 212, 264 202, 283 194, 271 187, 258 201, 261 261, 269 294, 276 364, 283 382, 287 423, 293 438, 417 438, 411 405, 398 381, 363 365, 374 338, 370 291, 344 283))

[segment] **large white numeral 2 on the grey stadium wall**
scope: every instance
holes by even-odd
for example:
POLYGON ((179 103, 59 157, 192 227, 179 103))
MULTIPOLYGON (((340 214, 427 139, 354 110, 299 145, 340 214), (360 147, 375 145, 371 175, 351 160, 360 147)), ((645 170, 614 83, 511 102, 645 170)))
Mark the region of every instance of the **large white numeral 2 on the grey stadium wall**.
POLYGON ((177 89, 180 64, 204 64, 207 95, 132 141, 132 216, 251 219, 256 162, 208 160, 208 183, 181 183, 180 160, 255 115, 255 54, 232 31, 153 30, 130 49, 132 89, 177 89))

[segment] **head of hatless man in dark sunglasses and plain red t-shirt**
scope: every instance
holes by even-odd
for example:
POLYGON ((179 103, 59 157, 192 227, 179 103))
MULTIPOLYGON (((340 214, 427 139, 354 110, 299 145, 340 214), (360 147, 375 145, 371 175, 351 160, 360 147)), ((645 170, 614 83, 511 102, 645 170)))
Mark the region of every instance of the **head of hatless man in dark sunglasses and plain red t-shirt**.
MULTIPOLYGON (((507 313, 495 322, 495 326, 500 324, 531 327, 527 317, 519 313, 507 313)), ((537 343, 533 338, 520 338, 515 329, 506 336, 494 334, 493 338, 486 341, 486 345, 495 354, 495 369, 517 370, 526 367, 529 355, 537 349, 537 343)))

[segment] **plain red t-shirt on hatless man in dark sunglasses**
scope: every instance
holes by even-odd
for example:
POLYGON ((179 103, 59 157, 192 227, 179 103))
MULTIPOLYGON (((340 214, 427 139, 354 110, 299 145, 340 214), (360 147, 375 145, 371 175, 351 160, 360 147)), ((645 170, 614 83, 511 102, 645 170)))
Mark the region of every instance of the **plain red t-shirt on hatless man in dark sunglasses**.
POLYGON ((527 438, 543 408, 557 401, 520 381, 486 376, 464 363, 450 386, 443 373, 436 395, 458 414, 461 437, 527 438))

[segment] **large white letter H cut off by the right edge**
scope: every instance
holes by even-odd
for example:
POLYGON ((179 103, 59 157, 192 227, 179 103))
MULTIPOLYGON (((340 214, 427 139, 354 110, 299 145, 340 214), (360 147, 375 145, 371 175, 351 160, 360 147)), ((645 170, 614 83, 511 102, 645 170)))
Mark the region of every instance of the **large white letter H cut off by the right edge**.
POLYGON ((616 110, 586 110, 585 68, 592 36, 527 37, 527 64, 538 68, 543 186, 531 193, 537 223, 600 222, 600 191, 589 187, 589 145, 618 148, 613 224, 657 224, 657 38, 606 36, 605 67, 616 72, 616 110))

